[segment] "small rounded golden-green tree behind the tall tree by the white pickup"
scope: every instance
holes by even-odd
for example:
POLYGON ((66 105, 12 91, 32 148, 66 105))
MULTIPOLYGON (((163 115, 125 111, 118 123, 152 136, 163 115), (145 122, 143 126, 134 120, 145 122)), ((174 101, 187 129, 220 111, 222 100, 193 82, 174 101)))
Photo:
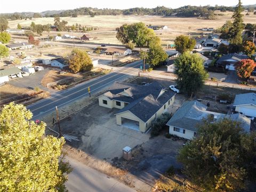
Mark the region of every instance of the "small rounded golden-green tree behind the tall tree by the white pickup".
POLYGON ((186 51, 191 51, 196 45, 195 39, 190 39, 188 36, 180 35, 174 40, 175 48, 177 51, 184 53, 186 51))

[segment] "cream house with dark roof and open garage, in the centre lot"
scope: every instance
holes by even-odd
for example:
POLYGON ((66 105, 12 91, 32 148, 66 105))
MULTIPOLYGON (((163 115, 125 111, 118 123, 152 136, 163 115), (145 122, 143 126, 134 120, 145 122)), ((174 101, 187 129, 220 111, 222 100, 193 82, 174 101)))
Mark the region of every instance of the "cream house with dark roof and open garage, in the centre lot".
POLYGON ((120 109, 115 114, 118 125, 146 132, 152 121, 174 102, 175 92, 157 82, 147 85, 115 83, 99 97, 99 105, 120 109))

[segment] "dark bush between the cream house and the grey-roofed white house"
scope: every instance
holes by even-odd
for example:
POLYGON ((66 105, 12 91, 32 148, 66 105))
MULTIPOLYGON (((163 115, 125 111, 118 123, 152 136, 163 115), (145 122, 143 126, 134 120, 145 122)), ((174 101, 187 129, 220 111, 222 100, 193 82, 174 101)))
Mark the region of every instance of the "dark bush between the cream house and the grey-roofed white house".
POLYGON ((159 135, 159 132, 166 127, 166 123, 169 121, 171 118, 171 114, 169 113, 164 113, 160 117, 158 117, 155 121, 152 122, 151 125, 151 136, 155 137, 159 135))

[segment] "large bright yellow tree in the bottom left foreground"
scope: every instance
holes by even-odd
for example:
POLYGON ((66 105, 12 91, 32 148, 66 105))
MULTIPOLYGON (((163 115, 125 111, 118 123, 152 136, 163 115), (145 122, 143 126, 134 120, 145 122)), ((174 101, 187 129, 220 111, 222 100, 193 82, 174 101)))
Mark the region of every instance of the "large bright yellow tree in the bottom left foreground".
POLYGON ((11 102, 0 115, 0 190, 67 191, 70 165, 63 162, 64 138, 44 136, 44 122, 36 124, 23 105, 11 102))

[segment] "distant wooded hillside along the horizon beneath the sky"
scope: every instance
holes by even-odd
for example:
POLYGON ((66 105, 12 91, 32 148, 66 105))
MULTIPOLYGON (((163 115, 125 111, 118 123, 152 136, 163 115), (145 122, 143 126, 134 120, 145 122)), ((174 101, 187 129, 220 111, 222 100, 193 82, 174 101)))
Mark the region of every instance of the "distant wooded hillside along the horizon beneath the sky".
MULTIPOLYGON (((254 5, 245 5, 245 9, 252 9, 256 7, 254 5)), ((203 19, 214 19, 213 11, 234 11, 234 6, 182 6, 178 9, 171 9, 164 6, 157 6, 153 9, 135 7, 131 9, 119 10, 119 9, 97 9, 92 7, 81 7, 73 10, 53 10, 53 11, 43 11, 41 13, 34 12, 21 12, 21 13, 5 13, 0 14, 1 17, 6 19, 17 20, 26 19, 33 17, 77 17, 77 15, 161 15, 161 16, 171 16, 176 17, 199 17, 203 19)))

